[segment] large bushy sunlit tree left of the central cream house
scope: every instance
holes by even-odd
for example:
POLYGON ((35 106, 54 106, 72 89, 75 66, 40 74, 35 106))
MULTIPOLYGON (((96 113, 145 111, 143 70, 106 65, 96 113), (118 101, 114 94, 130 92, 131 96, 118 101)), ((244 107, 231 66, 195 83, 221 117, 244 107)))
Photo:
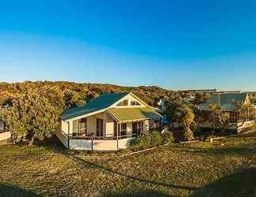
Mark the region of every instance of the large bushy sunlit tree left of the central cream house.
POLYGON ((12 106, 0 110, 14 142, 28 136, 35 139, 50 137, 58 127, 58 118, 64 108, 63 94, 56 87, 29 89, 17 94, 12 106))

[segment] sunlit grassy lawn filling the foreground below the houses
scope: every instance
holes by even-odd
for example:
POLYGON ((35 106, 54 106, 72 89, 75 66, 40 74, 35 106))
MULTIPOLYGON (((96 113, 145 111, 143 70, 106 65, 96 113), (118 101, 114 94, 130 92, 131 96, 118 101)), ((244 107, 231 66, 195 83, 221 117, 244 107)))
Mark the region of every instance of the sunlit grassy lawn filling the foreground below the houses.
POLYGON ((256 132, 120 158, 0 146, 0 196, 256 196, 256 132))

